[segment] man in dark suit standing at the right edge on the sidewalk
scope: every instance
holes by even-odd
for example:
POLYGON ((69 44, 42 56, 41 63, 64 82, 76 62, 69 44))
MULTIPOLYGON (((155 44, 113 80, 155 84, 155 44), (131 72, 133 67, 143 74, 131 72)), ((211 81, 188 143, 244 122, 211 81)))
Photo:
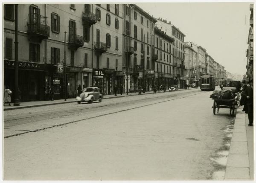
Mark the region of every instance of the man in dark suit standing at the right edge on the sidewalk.
POLYGON ((249 86, 245 90, 246 94, 246 105, 248 110, 248 119, 249 124, 248 126, 253 126, 253 79, 249 81, 249 86))

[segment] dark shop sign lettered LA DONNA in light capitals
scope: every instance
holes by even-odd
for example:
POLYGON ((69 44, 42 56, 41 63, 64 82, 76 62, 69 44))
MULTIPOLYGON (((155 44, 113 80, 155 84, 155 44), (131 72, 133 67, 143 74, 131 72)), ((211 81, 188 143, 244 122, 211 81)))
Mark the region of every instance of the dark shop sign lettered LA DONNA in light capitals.
MULTIPOLYGON (((40 64, 35 62, 19 61, 19 68, 32 69, 32 70, 45 70, 46 64, 40 64)), ((15 61, 4 61, 4 67, 15 67, 15 61)))

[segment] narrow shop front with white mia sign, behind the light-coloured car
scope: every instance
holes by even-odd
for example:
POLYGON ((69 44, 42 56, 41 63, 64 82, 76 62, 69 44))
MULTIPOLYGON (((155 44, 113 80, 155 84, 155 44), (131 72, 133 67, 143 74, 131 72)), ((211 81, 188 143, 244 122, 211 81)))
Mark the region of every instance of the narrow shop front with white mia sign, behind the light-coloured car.
POLYGON ((98 87, 100 92, 105 95, 104 90, 104 70, 93 69, 93 87, 98 87))

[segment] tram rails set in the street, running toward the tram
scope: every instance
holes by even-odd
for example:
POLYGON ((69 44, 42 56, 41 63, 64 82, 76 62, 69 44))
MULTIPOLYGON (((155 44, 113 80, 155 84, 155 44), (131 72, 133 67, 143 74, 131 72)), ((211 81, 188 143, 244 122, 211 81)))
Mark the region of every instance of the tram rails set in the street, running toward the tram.
MULTIPOLYGON (((193 92, 188 92, 188 93, 190 93, 190 94, 191 93, 195 93, 195 94, 186 95, 186 96, 180 96, 180 97, 177 97, 175 99, 163 100, 163 101, 160 101, 160 102, 154 102, 154 103, 151 103, 151 104, 145 104, 145 105, 140 105, 140 106, 137 106, 137 107, 131 107, 131 108, 128 108, 128 109, 123 109, 123 110, 118 110, 118 111, 114 111, 114 112, 110 112, 110 113, 105 113, 105 114, 100 114, 100 115, 96 115, 96 116, 91 116, 91 117, 87 117, 87 118, 83 118, 83 119, 78 119, 78 120, 74 120, 74 121, 70 121, 70 122, 61 123, 61 124, 58 124, 58 125, 52 125, 52 126, 49 126, 49 127, 40 128, 40 129, 37 129, 37 130, 32 130, 32 131, 23 130, 25 132, 8 135, 8 136, 5 136, 4 139, 10 138, 10 137, 19 136, 19 135, 23 135, 23 134, 27 134, 27 133, 38 132, 38 131, 42 131, 42 130, 46 130, 46 129, 50 129, 50 128, 54 128, 54 127, 60 127, 60 126, 63 126, 63 125, 68 125, 68 124, 72 124, 72 123, 75 123, 75 122, 80 122, 80 121, 84 121, 84 120, 88 120, 88 119, 93 119, 93 118, 97 118, 97 117, 101 117, 101 116, 107 116, 107 115, 111 115, 111 114, 114 114, 114 113, 120 113, 120 112, 124 112, 124 111, 127 111, 127 110, 133 110, 133 109, 137 109, 137 108, 141 108, 141 107, 145 107, 145 106, 155 105, 155 104, 159 104, 159 103, 163 103, 163 102, 169 102, 169 101, 172 101, 172 100, 183 99, 183 98, 186 98, 186 97, 189 97, 189 96, 194 96, 194 95, 198 95, 200 93, 206 93, 206 92, 193 91, 193 92)), ((187 94, 187 93, 183 93, 183 94, 187 94)), ((171 96, 174 97, 176 95, 169 95, 169 96, 166 96, 165 98, 171 97, 171 96)), ((155 99, 160 98, 160 97, 163 97, 163 96, 158 96, 155 99)), ((141 99, 139 101, 142 101, 142 100, 148 100, 148 98, 141 99)), ((138 100, 134 100, 134 101, 138 101, 138 100)), ((134 101, 132 101, 132 102, 134 102, 134 101)), ((119 102, 119 103, 115 103, 115 104, 111 104, 111 105, 117 105, 117 104, 122 104, 122 103, 127 103, 127 101, 126 102, 119 102)), ((101 106, 90 107, 90 108, 105 107, 105 106, 109 106, 109 105, 101 105, 101 106)), ((83 109, 79 109, 79 110, 84 110, 84 108, 83 109)), ((76 111, 78 111, 78 110, 76 110, 76 111)), ((63 111, 62 111, 62 113, 63 113, 63 111)), ((72 115, 76 115, 76 114, 72 114, 72 115)), ((67 116, 72 116, 72 115, 67 115, 67 116)), ((30 117, 26 117, 26 118, 31 118, 31 116, 30 117)))

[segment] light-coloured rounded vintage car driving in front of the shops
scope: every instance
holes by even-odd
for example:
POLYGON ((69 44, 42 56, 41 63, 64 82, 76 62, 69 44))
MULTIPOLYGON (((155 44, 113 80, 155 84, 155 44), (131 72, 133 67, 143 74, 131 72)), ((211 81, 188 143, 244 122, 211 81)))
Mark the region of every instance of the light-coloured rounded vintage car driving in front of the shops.
POLYGON ((102 94, 100 94, 98 87, 87 87, 83 89, 83 92, 80 96, 76 97, 77 103, 80 104, 81 102, 88 102, 93 103, 93 101, 98 100, 102 102, 102 94))

